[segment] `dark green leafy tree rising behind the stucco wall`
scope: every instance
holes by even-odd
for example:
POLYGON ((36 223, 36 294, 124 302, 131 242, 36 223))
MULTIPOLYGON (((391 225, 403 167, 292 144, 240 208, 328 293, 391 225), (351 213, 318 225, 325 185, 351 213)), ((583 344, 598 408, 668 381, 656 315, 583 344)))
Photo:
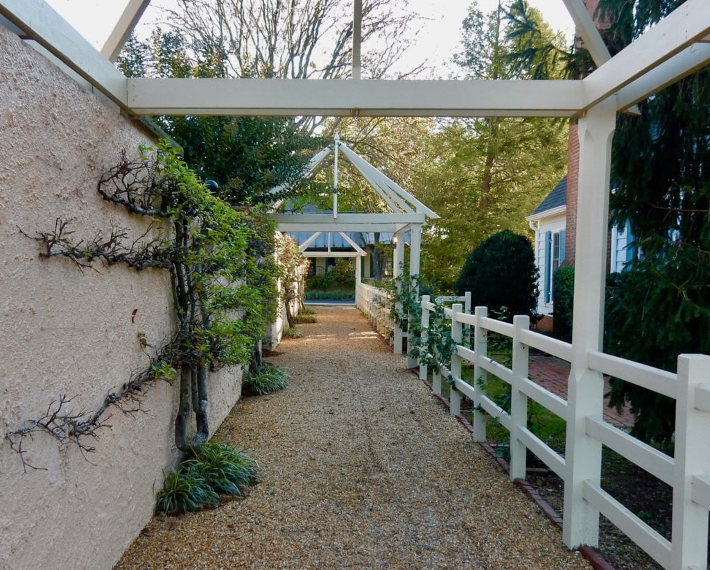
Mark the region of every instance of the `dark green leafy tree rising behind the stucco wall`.
MULTIPOLYGON (((180 31, 154 31, 135 38, 118 60, 126 75, 225 77, 226 54, 194 45, 180 31)), ((291 117, 163 116, 158 123, 182 146, 183 158, 202 178, 219 183, 232 205, 272 203, 301 189, 302 172, 323 141, 303 134, 291 117), (272 193, 275 187, 278 193, 272 193)))

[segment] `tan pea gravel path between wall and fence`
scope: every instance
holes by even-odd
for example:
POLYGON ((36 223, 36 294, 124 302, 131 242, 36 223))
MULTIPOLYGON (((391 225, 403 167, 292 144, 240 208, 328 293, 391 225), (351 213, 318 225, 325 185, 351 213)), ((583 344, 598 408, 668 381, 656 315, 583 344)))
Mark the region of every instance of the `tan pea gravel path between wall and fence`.
POLYGON ((589 568, 354 307, 317 320, 269 359, 288 388, 243 399, 214 436, 261 483, 153 520, 116 569, 589 568))

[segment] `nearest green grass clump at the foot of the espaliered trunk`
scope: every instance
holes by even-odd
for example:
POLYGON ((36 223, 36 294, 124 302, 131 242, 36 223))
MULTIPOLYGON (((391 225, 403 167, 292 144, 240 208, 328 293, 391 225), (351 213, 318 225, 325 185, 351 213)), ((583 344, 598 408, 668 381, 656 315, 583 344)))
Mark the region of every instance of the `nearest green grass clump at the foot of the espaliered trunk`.
POLYGON ((216 507, 224 497, 241 497, 244 488, 256 483, 257 469, 244 451, 208 441, 165 477, 155 512, 178 515, 216 507))

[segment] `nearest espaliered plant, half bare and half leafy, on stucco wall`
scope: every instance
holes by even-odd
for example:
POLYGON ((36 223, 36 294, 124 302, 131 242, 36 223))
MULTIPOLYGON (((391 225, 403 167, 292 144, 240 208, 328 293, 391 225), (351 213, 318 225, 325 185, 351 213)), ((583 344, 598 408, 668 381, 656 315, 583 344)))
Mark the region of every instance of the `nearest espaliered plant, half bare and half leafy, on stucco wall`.
MULTIPOLYGON (((274 227, 254 213, 238 212, 209 193, 204 183, 165 141, 157 149, 141 146, 138 161, 124 152, 121 162, 98 184, 104 200, 136 215, 160 220, 165 237, 148 239, 153 225, 135 240, 127 230, 111 228, 108 235, 72 242, 72 220, 57 220, 52 232, 34 239, 45 246, 43 257, 63 256, 80 269, 122 263, 136 270, 168 269, 173 283, 177 330, 170 342, 151 358, 124 387, 109 394, 94 412, 66 412, 71 399, 60 397, 43 418, 26 421, 7 434, 23 458, 22 443, 45 431, 61 443, 76 443, 93 451, 87 437, 107 427, 111 406, 136 412, 138 397, 156 380, 179 378, 180 405, 175 418, 175 444, 182 451, 200 446, 209 438, 207 420, 208 373, 221 367, 247 365, 268 323, 273 321, 278 292, 278 267, 274 259, 274 227), (190 414, 196 433, 188 435, 190 414)), ((24 232, 23 232, 24 233, 24 232)), ((139 335, 143 347, 148 346, 139 335)), ((33 467, 33 466, 30 466, 33 467)))

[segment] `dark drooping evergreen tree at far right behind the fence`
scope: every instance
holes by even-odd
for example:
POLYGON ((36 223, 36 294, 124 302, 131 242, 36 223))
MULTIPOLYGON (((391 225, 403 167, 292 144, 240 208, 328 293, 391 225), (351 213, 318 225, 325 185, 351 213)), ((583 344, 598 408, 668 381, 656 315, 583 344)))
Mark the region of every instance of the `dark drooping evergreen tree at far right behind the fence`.
MULTIPOLYGON (((612 53, 684 0, 601 0, 612 53)), ((607 289, 605 350, 674 371, 680 353, 710 353, 710 70, 695 72, 618 118, 613 223, 628 220, 641 254, 607 289)), ((611 403, 630 402, 634 433, 668 441, 674 404, 613 380, 611 403)))

